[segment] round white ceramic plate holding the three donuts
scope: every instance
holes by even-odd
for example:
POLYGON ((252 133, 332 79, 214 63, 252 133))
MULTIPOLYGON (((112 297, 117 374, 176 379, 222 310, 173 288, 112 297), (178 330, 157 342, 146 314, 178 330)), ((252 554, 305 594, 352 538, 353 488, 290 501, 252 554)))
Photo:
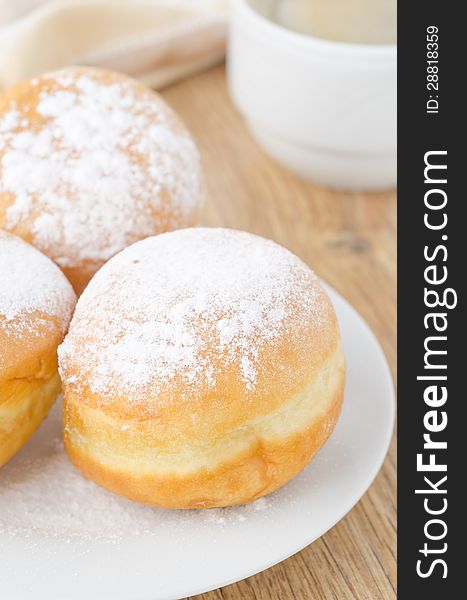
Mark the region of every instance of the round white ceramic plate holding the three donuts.
POLYGON ((283 489, 247 506, 163 511, 117 498, 69 465, 55 409, 0 472, 1 600, 167 600, 284 560, 365 493, 391 439, 394 393, 368 326, 336 292, 347 357, 331 439, 283 489))

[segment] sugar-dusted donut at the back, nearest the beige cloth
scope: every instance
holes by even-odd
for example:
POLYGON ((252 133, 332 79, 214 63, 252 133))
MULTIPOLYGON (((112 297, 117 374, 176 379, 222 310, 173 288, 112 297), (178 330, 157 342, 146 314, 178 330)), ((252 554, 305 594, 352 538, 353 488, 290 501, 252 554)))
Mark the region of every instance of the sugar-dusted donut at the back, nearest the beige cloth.
POLYGON ((126 246, 195 225, 201 203, 193 140, 142 83, 69 67, 0 96, 0 228, 49 256, 78 294, 126 246))

